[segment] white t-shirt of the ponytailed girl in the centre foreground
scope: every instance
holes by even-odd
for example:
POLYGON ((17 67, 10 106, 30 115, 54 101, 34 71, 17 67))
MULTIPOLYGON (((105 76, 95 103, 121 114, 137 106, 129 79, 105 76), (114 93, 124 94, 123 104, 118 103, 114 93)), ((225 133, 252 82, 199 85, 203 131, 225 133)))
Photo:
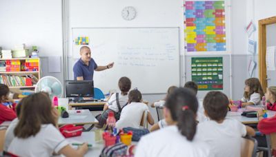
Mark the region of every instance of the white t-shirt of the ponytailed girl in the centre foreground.
POLYGON ((177 126, 172 125, 143 136, 135 151, 136 157, 209 156, 210 148, 196 137, 189 141, 182 136, 177 126))

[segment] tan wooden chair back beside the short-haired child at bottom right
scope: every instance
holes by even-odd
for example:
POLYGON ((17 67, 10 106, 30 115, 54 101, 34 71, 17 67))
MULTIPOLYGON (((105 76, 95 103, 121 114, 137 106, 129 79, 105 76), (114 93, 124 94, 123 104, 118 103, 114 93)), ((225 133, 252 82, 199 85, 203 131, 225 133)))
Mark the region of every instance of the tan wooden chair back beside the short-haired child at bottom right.
POLYGON ((242 157, 255 157, 257 155, 257 140, 246 136, 242 140, 242 157))

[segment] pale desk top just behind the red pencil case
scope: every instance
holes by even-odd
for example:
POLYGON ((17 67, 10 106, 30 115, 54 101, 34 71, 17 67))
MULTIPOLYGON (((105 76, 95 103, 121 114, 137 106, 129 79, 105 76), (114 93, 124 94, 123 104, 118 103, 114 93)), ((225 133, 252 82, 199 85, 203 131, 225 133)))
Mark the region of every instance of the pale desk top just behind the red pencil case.
POLYGON ((99 123, 95 116, 93 116, 92 113, 89 111, 89 109, 68 110, 68 114, 68 118, 59 117, 59 125, 86 125, 99 123))

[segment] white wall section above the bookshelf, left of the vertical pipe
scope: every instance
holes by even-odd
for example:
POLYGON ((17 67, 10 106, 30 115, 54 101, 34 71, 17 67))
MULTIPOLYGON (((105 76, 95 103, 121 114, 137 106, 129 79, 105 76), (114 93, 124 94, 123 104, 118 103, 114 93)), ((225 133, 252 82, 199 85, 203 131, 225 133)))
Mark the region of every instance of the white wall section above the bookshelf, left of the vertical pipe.
POLYGON ((0 46, 11 50, 25 43, 32 50, 37 45, 42 76, 55 76, 63 82, 63 66, 60 73, 48 72, 48 56, 63 55, 61 17, 61 0, 1 0, 0 46))

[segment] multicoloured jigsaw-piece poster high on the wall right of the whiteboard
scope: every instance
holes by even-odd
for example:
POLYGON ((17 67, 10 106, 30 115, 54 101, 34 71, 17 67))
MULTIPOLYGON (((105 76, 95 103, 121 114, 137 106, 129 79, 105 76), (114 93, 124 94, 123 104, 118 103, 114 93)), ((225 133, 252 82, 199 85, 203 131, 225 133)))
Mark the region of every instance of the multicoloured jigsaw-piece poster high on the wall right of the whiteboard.
POLYGON ((187 52, 226 51, 224 1, 184 1, 187 52))

